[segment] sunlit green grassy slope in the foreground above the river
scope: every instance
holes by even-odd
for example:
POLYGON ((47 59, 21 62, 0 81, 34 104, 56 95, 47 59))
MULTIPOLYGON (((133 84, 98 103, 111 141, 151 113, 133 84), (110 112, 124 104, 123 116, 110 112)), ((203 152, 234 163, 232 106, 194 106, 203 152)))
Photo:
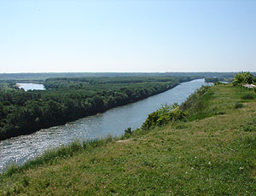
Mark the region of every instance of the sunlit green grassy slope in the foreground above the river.
POLYGON ((255 97, 239 109, 240 90, 231 85, 206 97, 200 119, 4 174, 0 195, 256 195, 256 131, 245 131, 256 127, 255 97))

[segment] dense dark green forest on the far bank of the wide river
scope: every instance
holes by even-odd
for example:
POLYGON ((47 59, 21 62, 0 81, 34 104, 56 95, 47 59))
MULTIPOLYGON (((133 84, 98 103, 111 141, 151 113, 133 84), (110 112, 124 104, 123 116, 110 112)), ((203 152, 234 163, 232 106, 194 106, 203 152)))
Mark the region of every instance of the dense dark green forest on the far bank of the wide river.
POLYGON ((156 95, 191 77, 48 78, 46 90, 0 83, 0 140, 65 124, 156 95))

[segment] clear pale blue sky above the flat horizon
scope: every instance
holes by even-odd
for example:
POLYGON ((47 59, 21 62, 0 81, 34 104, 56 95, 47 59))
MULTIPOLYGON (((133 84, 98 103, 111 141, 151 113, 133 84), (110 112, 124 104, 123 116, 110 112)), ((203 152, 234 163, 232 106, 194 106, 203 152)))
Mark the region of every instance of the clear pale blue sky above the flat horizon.
POLYGON ((0 72, 256 71, 256 1, 0 0, 0 72))

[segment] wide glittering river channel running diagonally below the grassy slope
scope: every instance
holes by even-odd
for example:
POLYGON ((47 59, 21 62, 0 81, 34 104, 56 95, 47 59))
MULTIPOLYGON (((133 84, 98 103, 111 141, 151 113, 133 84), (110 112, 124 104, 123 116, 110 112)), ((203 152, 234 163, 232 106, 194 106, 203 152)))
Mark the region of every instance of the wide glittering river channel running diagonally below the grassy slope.
POLYGON ((196 79, 179 84, 159 95, 150 96, 143 101, 116 107, 72 123, 38 130, 31 135, 21 135, 0 141, 0 171, 11 163, 23 164, 44 153, 46 149, 59 147, 75 139, 91 140, 107 135, 120 136, 127 127, 140 128, 148 113, 154 112, 161 104, 182 103, 201 85, 207 85, 204 79, 196 79))

